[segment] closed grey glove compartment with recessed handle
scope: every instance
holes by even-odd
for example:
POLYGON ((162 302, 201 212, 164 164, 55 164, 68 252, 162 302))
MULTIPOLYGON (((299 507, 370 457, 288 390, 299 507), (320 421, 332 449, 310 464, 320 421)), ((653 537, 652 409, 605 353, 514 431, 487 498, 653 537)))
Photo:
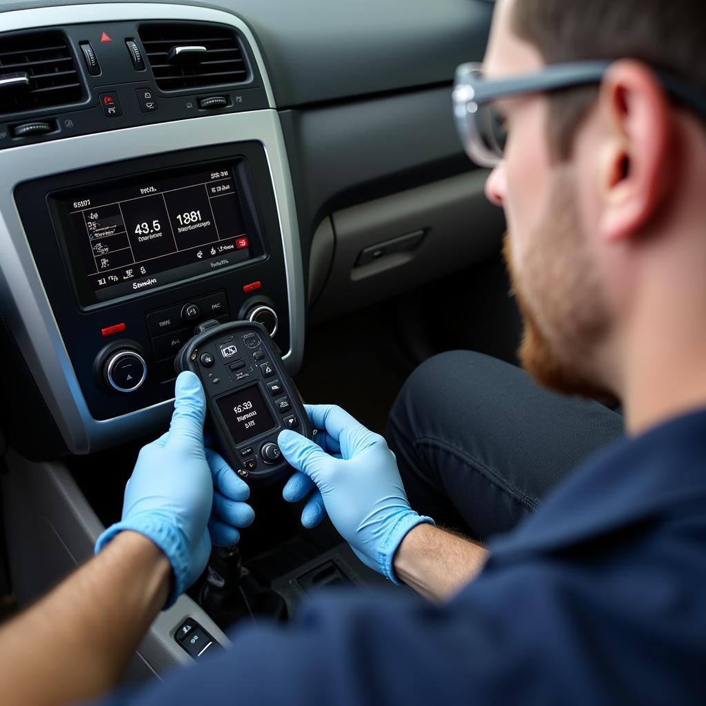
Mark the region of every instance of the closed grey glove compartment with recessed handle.
POLYGON ((337 211, 311 248, 311 323, 483 261, 501 247, 502 210, 484 196, 488 172, 474 170, 337 211))

